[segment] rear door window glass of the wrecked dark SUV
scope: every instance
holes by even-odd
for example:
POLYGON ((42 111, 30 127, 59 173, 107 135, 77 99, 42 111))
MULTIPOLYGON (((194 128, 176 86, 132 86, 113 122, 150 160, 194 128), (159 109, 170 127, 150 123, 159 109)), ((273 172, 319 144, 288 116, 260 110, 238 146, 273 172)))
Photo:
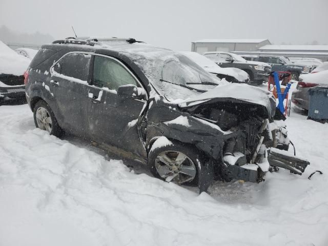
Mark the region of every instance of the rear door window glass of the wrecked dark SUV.
POLYGON ((88 80, 91 55, 72 53, 65 55, 54 66, 54 71, 83 81, 88 80))

